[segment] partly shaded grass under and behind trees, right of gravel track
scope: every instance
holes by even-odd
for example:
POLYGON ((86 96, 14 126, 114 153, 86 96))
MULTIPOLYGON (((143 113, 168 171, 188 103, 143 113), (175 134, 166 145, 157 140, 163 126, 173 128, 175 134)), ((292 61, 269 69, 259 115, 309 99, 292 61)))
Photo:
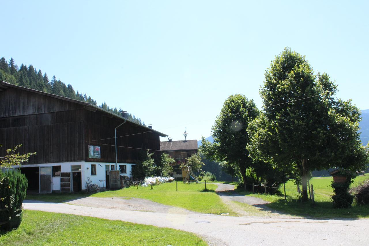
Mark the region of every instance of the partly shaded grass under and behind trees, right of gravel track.
MULTIPOLYGON (((357 185, 359 182, 369 178, 369 175, 358 176, 352 186, 357 185)), ((347 209, 336 209, 331 202, 331 195, 333 189, 330 186, 332 177, 313 178, 310 180, 310 184, 314 186, 315 203, 311 201, 301 203, 299 201, 299 193, 297 192, 296 185, 293 181, 286 183, 286 195, 287 201, 284 197, 277 195, 265 195, 265 194, 252 194, 252 192, 245 192, 241 189, 237 189, 240 194, 247 196, 258 197, 266 201, 271 202, 267 206, 277 211, 288 213, 290 215, 297 216, 312 216, 317 218, 369 218, 369 206, 356 206, 347 209)), ((302 189, 300 187, 300 189, 302 189)), ((283 186, 279 189, 283 194, 283 186)))

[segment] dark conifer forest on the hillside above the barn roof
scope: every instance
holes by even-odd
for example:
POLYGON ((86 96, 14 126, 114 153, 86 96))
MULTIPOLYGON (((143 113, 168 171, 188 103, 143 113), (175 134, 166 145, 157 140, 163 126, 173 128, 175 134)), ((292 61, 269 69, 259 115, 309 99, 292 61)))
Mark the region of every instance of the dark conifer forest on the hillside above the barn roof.
MULTIPOLYGON (((121 108, 117 109, 116 107, 108 107, 105 102, 97 105, 96 100, 94 100, 91 96, 87 96, 86 93, 83 94, 78 90, 75 91, 71 84, 66 85, 60 79, 56 79, 55 75, 52 76, 51 80, 49 80, 46 72, 42 74, 41 69, 37 70, 37 68, 32 66, 32 64, 28 66, 22 64, 19 68, 19 66, 15 64, 13 58, 10 58, 9 62, 7 62, 4 57, 1 57, 0 80, 14 85, 87 102, 115 113, 116 115, 121 115, 121 108)), ((145 126, 145 123, 142 122, 141 119, 136 118, 135 115, 130 113, 128 113, 127 119, 145 126)))

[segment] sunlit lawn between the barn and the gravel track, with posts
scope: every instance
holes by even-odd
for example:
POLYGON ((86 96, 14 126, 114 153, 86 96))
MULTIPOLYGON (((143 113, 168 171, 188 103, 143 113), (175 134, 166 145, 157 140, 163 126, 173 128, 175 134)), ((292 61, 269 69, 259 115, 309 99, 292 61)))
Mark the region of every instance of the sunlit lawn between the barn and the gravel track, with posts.
MULTIPOLYGON (((104 191, 93 194, 92 197, 134 197, 148 199, 165 205, 185 208, 200 213, 232 213, 232 211, 215 194, 217 185, 206 184, 183 184, 176 182, 153 185, 151 187, 130 187, 115 191, 104 191)), ((232 213, 233 214, 233 213, 232 213)))

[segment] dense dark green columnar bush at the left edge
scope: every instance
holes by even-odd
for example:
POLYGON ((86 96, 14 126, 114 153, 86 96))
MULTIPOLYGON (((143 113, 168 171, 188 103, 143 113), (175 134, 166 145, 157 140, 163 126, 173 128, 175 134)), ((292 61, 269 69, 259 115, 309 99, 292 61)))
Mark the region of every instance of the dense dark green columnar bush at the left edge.
POLYGON ((9 231, 20 225, 27 187, 24 174, 13 170, 0 172, 0 222, 7 222, 0 226, 0 230, 9 231))

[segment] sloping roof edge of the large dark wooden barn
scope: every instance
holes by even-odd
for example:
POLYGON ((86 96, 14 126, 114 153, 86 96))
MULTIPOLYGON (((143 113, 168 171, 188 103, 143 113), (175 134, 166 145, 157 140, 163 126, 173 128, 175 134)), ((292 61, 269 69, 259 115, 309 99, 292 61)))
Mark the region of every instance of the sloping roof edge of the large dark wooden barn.
POLYGON ((8 82, 5 82, 5 81, 0 81, 0 93, 3 92, 4 90, 6 90, 9 87, 11 87, 11 88, 17 88, 17 89, 21 89, 21 90, 27 90, 29 92, 38 93, 38 94, 45 95, 45 96, 51 96, 53 98, 58 98, 58 99, 61 99, 61 100, 72 102, 72 103, 78 103, 80 105, 84 105, 86 108, 92 109, 93 111, 104 112, 104 113, 107 113, 109 115, 112 115, 112 116, 114 116, 114 117, 116 117, 118 119, 126 120, 128 122, 131 122, 133 124, 136 124, 136 125, 138 125, 140 127, 143 127, 143 128, 145 128, 147 130, 155 131, 161 137, 168 137, 168 135, 166 135, 164 133, 161 133, 160 131, 156 131, 156 130, 151 129, 151 128, 147 127, 147 126, 141 125, 141 124, 139 124, 137 122, 134 122, 134 121, 129 120, 129 119, 126 119, 126 118, 124 118, 122 116, 116 115, 115 113, 112 113, 112 112, 110 112, 108 110, 102 109, 101 107, 98 107, 98 106, 93 105, 93 104, 90 104, 90 103, 82 102, 82 101, 79 101, 79 100, 76 100, 76 99, 66 98, 64 96, 54 95, 54 94, 51 94, 51 93, 42 92, 42 91, 39 91, 39 90, 34 90, 34 89, 26 88, 26 87, 19 86, 19 85, 13 85, 13 84, 8 83, 8 82))

